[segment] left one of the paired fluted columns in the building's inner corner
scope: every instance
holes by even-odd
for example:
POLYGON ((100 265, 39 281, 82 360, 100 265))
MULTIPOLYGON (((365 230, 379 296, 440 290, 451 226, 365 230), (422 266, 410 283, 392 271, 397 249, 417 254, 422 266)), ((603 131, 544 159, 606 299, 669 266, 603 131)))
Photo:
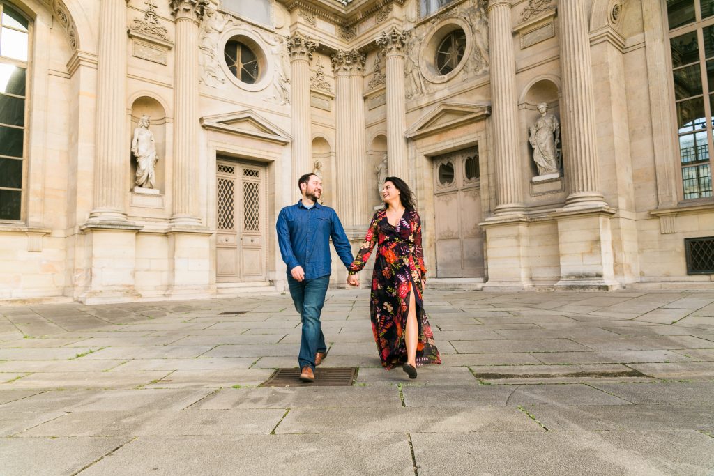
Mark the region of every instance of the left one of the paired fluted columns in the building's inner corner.
POLYGON ((332 69, 335 74, 335 189, 337 191, 337 211, 341 220, 347 223, 351 216, 351 94, 350 71, 352 56, 349 51, 338 50, 332 55, 332 69))

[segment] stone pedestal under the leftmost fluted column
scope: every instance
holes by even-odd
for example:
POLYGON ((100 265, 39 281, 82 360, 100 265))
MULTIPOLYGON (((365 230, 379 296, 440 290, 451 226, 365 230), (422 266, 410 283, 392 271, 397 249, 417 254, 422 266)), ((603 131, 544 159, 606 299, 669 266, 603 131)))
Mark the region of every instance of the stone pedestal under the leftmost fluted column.
POLYGON ((136 233, 141 226, 85 225, 89 280, 78 299, 85 304, 118 303, 139 298, 134 288, 136 233))

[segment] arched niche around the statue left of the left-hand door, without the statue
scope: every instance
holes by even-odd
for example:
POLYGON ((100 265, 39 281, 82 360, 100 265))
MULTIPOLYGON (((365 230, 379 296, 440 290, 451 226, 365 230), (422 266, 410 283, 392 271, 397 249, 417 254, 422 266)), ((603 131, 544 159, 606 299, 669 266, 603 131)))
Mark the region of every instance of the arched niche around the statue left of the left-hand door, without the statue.
MULTIPOLYGON (((164 106, 151 96, 139 96, 131 104, 131 127, 129 128, 129 144, 134 139, 134 130, 139 126, 139 119, 149 116, 149 131, 154 134, 156 155, 156 189, 162 195, 166 191, 166 111, 164 106)), ((136 158, 130 153, 131 173, 129 175, 129 189, 136 186, 136 158)))

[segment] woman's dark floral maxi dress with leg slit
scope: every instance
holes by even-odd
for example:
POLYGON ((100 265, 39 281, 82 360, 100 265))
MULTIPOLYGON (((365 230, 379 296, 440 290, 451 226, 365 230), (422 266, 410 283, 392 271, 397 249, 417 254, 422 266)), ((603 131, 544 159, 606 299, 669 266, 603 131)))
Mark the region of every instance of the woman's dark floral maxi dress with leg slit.
POLYGON ((370 310, 374 340, 382 365, 391 369, 407 360, 404 330, 412 290, 416 290, 414 303, 419 325, 416 365, 441 364, 431 326, 424 312, 423 282, 426 280, 426 268, 418 213, 406 210, 397 225, 391 226, 386 211, 377 211, 357 258, 350 266, 351 272, 364 268, 377 243, 370 310))

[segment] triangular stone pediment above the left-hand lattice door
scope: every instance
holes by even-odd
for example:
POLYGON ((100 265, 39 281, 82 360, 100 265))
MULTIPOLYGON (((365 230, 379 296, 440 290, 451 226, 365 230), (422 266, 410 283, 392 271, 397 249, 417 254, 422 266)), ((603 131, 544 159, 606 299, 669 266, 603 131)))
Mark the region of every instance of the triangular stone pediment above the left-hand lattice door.
POLYGON ((286 144, 291 141, 290 134, 263 118, 255 111, 238 111, 216 114, 201 118, 203 128, 236 136, 250 136, 263 141, 286 144))

